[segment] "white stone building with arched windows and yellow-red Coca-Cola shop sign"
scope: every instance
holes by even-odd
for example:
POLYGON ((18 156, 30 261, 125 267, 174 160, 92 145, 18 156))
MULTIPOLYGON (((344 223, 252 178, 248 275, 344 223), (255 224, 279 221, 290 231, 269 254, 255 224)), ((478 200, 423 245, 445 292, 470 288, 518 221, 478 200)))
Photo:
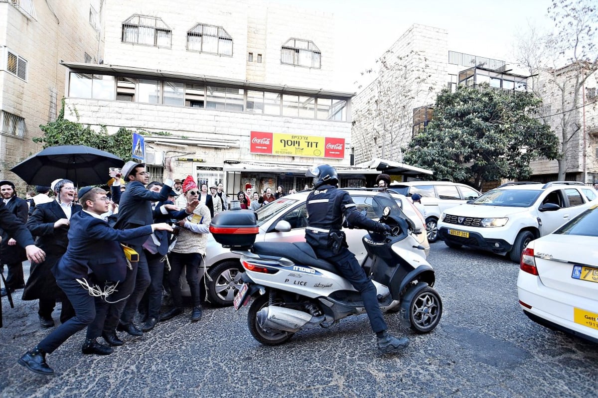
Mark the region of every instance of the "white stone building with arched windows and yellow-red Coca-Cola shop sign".
MULTIPOLYGON (((149 171, 228 194, 303 189, 316 163, 350 163, 353 93, 329 90, 331 14, 267 1, 103 2, 101 64, 65 59, 65 117, 145 137, 149 171)), ((353 176, 355 177, 355 176, 353 176)), ((355 182, 356 183, 356 182, 355 182)))

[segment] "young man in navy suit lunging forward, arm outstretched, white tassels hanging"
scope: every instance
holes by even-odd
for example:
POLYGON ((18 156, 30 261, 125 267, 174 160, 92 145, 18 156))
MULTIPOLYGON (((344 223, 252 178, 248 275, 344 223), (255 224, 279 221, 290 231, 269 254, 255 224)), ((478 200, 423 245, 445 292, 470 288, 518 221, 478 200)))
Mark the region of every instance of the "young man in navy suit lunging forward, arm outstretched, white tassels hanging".
POLYGON ((45 362, 45 354, 79 330, 87 327, 83 354, 108 355, 112 348, 99 344, 111 292, 127 275, 127 259, 118 241, 147 237, 154 230, 172 231, 167 224, 149 224, 120 231, 111 228, 102 214, 108 211, 106 191, 102 188, 81 188, 83 211, 71 217, 69 244, 65 255, 54 266, 58 286, 75 308, 75 316, 61 324, 19 359, 30 371, 48 375, 54 370, 45 362))

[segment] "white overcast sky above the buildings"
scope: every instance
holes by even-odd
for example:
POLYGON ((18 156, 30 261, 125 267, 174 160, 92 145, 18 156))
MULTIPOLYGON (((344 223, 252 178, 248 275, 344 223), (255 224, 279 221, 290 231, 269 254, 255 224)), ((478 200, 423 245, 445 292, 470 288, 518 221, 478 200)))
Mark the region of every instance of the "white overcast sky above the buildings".
MULTIPOLYGON (((335 89, 359 91, 354 82, 414 23, 449 32, 449 50, 514 61, 517 32, 528 23, 551 29, 551 0, 272 0, 334 14, 335 89)), ((448 57, 448 54, 447 54, 448 57)))

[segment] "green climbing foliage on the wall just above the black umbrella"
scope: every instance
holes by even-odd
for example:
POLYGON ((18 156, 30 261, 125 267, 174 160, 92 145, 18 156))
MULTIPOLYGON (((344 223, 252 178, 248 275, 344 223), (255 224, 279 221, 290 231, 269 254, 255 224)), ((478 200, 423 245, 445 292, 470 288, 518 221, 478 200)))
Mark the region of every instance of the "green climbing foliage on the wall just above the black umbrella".
POLYGON ((42 143, 44 148, 56 145, 87 145, 117 155, 124 161, 131 160, 133 131, 121 127, 117 133, 108 134, 106 127, 102 127, 98 133, 89 125, 66 120, 64 100, 56 120, 42 124, 39 128, 44 131, 44 135, 34 138, 33 142, 42 143))

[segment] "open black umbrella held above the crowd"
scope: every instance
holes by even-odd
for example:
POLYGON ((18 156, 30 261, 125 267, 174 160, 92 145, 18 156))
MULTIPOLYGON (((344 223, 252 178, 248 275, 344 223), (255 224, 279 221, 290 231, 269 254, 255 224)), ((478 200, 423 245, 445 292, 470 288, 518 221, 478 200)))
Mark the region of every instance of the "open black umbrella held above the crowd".
POLYGON ((110 167, 122 167, 124 161, 109 152, 84 145, 45 148, 10 169, 30 185, 50 186, 53 180, 66 178, 78 186, 105 184, 110 167))

